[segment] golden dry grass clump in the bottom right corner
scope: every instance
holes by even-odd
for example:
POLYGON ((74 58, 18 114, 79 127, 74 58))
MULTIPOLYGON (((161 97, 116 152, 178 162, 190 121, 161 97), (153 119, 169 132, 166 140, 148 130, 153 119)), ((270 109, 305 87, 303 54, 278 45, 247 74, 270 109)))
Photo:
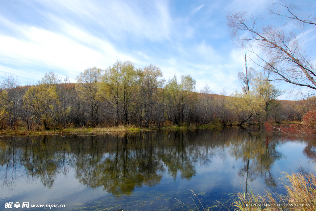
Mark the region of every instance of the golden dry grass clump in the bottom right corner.
POLYGON ((273 197, 267 191, 264 196, 255 196, 252 191, 248 193, 237 193, 237 199, 233 202, 235 211, 315 211, 316 210, 316 178, 310 174, 287 174, 284 179, 286 195, 276 195, 273 197), (308 203, 309 206, 299 206, 289 204, 308 203), (271 204, 271 206, 247 206, 247 204, 271 204), (273 204, 288 204, 286 206, 273 206, 273 204))

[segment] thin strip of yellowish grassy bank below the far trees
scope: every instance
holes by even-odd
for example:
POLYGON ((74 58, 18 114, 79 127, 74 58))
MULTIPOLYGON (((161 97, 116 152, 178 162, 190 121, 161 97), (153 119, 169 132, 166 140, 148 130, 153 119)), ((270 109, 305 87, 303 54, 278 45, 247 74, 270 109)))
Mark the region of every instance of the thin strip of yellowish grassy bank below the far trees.
MULTIPOLYGON (((178 126, 169 125, 162 126, 160 130, 196 130, 196 129, 219 129, 222 128, 220 124, 209 124, 202 126, 178 126)), ((67 128, 53 128, 50 130, 45 130, 44 128, 33 129, 28 131, 25 127, 18 127, 16 130, 12 130, 7 127, 0 130, 0 135, 58 135, 58 134, 102 134, 102 133, 122 133, 122 132, 142 132, 142 131, 154 131, 158 130, 156 126, 150 126, 149 128, 142 128, 138 126, 117 126, 117 127, 73 127, 69 126, 67 128)))

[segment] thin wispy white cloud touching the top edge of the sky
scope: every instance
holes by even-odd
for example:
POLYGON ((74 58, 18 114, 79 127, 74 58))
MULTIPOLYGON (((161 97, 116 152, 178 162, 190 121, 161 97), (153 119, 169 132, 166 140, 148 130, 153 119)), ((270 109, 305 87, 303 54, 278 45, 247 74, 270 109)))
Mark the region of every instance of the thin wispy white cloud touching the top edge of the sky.
MULTIPOLYGON (((64 19, 74 19, 97 25, 112 38, 146 38, 153 41, 168 39, 172 19, 166 1, 143 2, 143 7, 126 1, 38 1, 64 19), (70 17, 67 17, 69 14, 70 17)), ((42 12, 43 15, 45 12, 42 12)), ((98 30, 100 30, 98 29, 98 30)))

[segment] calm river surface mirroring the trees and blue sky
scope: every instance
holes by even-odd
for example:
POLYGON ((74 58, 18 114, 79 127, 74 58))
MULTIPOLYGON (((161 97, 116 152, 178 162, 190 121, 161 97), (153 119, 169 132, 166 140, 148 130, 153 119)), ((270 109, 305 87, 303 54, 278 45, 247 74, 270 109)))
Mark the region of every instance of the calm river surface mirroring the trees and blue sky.
POLYGON ((280 172, 313 172, 314 159, 315 139, 249 128, 1 137, 0 210, 5 202, 65 204, 50 210, 181 210, 174 198, 193 204, 189 189, 209 207, 250 188, 283 194, 280 172))

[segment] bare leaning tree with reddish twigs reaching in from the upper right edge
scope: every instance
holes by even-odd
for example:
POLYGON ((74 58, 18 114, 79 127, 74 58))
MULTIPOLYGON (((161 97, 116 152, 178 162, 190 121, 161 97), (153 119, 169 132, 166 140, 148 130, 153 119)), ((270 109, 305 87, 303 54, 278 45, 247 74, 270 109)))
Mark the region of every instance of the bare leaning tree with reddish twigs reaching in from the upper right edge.
MULTIPOLYGON (((314 16, 310 15, 307 19, 302 19, 302 15, 295 13, 298 7, 287 7, 283 4, 274 4, 274 6, 287 9, 288 14, 270 9, 270 12, 279 18, 298 21, 303 25, 315 25, 314 16)), ((289 30, 286 26, 263 25, 261 19, 261 16, 249 16, 247 13, 228 12, 227 25, 230 28, 231 38, 237 43, 248 44, 249 50, 270 66, 274 77, 270 81, 306 87, 309 88, 308 94, 314 95, 316 93, 315 65, 313 59, 305 53, 297 32, 294 29, 289 30), (259 47, 264 55, 256 52, 253 49, 254 45, 259 47)))

